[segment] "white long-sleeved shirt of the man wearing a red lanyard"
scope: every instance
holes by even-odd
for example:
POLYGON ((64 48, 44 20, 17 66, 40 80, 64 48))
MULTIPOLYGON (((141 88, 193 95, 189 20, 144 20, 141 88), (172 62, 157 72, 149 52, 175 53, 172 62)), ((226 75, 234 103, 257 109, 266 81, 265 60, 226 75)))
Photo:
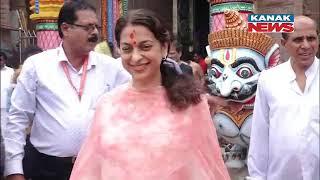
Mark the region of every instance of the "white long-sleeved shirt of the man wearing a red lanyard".
POLYGON ((66 61, 71 80, 79 88, 78 72, 67 61, 62 46, 28 58, 12 94, 5 132, 5 175, 22 173, 25 129, 31 121, 30 141, 41 153, 76 156, 87 134, 98 98, 128 82, 130 75, 115 59, 90 52, 81 101, 61 66, 66 61))

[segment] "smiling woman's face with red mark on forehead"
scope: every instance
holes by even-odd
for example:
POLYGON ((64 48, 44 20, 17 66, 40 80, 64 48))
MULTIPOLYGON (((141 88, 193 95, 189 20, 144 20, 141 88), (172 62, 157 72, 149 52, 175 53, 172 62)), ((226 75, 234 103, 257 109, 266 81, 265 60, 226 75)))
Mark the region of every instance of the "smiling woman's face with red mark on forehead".
POLYGON ((120 54, 124 68, 133 81, 161 81, 160 64, 166 56, 154 34, 142 25, 127 25, 120 34, 120 54))

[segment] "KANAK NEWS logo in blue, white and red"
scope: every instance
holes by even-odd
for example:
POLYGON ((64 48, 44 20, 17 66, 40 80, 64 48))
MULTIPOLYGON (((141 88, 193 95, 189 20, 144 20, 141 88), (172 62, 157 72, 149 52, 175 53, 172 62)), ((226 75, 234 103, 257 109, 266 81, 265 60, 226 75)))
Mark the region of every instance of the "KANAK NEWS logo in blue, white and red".
POLYGON ((248 31, 261 33, 290 33, 294 31, 293 14, 250 14, 248 31))

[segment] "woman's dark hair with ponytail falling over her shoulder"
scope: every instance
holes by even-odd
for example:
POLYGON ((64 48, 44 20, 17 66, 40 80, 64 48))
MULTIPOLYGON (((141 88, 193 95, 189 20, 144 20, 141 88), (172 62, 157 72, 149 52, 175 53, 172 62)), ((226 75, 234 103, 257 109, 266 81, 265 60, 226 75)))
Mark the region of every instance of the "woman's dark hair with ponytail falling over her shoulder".
MULTIPOLYGON (((141 25, 148 28, 161 45, 170 44, 170 33, 163 21, 152 11, 136 9, 128 12, 127 16, 120 17, 115 27, 115 38, 120 47, 120 34, 127 25, 141 25)), ((174 66, 166 60, 160 65, 162 85, 166 89, 171 105, 183 110, 190 105, 201 101, 203 88, 201 83, 192 76, 178 73, 174 66)))

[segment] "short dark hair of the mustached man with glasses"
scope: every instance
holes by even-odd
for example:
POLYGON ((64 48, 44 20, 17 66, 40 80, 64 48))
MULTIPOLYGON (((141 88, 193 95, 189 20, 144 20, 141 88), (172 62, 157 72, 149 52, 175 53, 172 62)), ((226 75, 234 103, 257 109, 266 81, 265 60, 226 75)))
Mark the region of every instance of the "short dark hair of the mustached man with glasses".
POLYGON ((72 0, 64 3, 58 16, 58 31, 61 38, 63 38, 61 24, 64 22, 73 24, 75 21, 77 21, 78 17, 76 12, 79 10, 92 10, 93 12, 96 12, 96 9, 84 0, 72 0))

